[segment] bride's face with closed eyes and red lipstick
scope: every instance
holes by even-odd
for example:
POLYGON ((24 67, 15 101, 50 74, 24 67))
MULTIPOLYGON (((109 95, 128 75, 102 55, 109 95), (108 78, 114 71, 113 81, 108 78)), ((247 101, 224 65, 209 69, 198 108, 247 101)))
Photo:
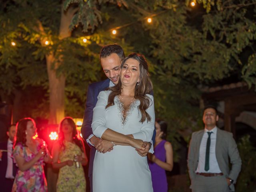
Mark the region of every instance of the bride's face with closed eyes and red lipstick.
POLYGON ((120 80, 123 85, 136 86, 140 80, 140 63, 136 59, 129 58, 124 62, 120 80))

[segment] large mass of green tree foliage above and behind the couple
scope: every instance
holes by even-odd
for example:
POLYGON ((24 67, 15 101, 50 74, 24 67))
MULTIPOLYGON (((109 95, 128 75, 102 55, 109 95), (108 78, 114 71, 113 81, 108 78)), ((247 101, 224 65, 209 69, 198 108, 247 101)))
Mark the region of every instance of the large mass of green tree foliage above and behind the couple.
POLYGON ((82 117, 88 84, 106 78, 100 49, 118 43, 126 55, 140 52, 149 61, 156 117, 168 122, 168 140, 176 150, 180 132, 201 127, 200 87, 233 74, 249 86, 256 83, 256 1, 197 0, 195 8, 189 2, 65 0, 64 10, 74 15, 72 36, 64 39, 59 38, 60 1, 1 2, 0 95, 40 86, 45 95, 31 113, 47 117, 46 56, 53 54, 52 68, 58 63, 56 75, 66 77, 66 114, 82 117), (118 34, 110 34, 117 26, 118 34))

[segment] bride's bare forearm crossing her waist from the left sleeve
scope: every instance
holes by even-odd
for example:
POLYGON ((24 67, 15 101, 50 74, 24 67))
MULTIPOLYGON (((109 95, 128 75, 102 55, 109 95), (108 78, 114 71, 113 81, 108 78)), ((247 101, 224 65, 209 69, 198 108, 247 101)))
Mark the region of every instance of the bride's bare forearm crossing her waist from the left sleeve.
POLYGON ((118 133, 116 131, 113 131, 111 129, 107 129, 101 136, 102 139, 116 142, 119 144, 127 144, 130 145, 132 142, 133 136, 130 135, 124 135, 121 133, 118 133))

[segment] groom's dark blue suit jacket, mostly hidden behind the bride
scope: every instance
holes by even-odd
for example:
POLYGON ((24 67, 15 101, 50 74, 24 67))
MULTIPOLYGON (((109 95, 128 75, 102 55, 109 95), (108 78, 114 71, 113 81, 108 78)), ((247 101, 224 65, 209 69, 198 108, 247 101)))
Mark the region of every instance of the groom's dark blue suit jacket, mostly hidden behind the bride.
MULTIPOLYGON (((101 91, 104 91, 106 88, 109 87, 109 79, 106 79, 104 81, 92 83, 88 86, 87 90, 87 98, 86 98, 86 106, 84 111, 84 120, 81 128, 81 133, 83 138, 86 140, 92 133, 92 115, 93 115, 93 108, 96 106, 96 103, 98 101, 98 94, 101 91)), ((156 137, 156 130, 154 130, 154 134, 152 137, 152 140, 154 142, 154 139, 156 137)), ((89 162, 89 171, 88 175, 89 177, 92 175, 92 168, 93 168, 93 161, 95 156, 96 148, 91 147, 90 150, 90 162, 89 162)))

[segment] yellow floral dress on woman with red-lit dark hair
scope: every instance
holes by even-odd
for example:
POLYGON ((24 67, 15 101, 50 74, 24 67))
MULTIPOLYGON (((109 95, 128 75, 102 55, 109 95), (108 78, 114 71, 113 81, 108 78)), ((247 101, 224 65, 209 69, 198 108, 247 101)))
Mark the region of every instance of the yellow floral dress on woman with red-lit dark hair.
MULTIPOLYGON (((60 149, 59 160, 64 162, 66 160, 74 160, 75 155, 82 155, 84 153, 80 147, 72 142, 63 141, 64 148, 60 149)), ((57 181, 57 192, 85 192, 86 180, 84 176, 84 169, 80 163, 80 167, 76 168, 76 164, 72 166, 64 166, 60 168, 57 181)))

